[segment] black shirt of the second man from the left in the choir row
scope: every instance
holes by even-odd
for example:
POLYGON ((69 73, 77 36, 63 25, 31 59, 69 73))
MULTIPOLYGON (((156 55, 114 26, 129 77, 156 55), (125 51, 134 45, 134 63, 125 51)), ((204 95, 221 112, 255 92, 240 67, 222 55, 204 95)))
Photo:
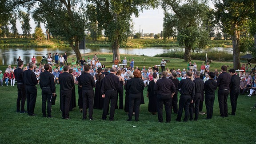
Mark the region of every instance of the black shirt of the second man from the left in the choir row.
POLYGON ((36 74, 32 72, 31 69, 24 71, 23 81, 24 81, 24 84, 26 85, 35 86, 37 84, 36 74))

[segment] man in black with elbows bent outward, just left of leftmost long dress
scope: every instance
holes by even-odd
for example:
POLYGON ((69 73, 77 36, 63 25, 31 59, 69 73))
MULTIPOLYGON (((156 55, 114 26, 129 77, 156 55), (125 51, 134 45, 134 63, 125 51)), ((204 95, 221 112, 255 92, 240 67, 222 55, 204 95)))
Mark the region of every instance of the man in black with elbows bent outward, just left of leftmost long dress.
POLYGON ((91 76, 90 72, 90 66, 84 65, 84 73, 79 76, 76 80, 76 84, 82 85, 82 96, 83 96, 83 119, 86 119, 86 113, 87 113, 87 105, 89 105, 89 120, 92 119, 93 114, 93 100, 94 100, 94 91, 93 88, 96 87, 96 83, 94 81, 93 76, 91 76))

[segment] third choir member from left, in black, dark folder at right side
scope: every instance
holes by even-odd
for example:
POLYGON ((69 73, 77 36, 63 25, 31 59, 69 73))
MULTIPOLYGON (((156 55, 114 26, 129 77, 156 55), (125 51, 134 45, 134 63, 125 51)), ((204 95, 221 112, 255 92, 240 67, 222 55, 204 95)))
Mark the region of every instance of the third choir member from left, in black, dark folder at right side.
POLYGON ((46 101, 47 101, 47 117, 51 118, 51 109, 52 109, 52 101, 51 97, 56 96, 55 93, 55 83, 54 83, 54 76, 49 72, 50 65, 44 65, 44 72, 40 73, 40 88, 42 89, 42 112, 43 117, 46 117, 46 101))

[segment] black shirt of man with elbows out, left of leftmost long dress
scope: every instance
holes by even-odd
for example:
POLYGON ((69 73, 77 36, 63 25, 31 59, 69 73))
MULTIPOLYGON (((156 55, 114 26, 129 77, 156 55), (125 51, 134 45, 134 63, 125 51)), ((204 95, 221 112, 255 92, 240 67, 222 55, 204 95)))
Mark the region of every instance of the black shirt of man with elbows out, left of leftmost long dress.
POLYGON ((88 72, 84 72, 83 74, 81 74, 81 76, 79 76, 77 80, 79 81, 79 84, 82 85, 82 88, 84 90, 91 90, 96 87, 93 76, 90 75, 90 73, 88 72))

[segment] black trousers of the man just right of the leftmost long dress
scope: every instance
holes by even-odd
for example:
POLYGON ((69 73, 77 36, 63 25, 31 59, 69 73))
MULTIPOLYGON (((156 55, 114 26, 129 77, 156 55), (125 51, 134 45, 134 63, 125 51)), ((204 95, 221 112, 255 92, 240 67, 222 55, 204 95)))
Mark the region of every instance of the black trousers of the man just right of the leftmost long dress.
POLYGON ((103 113, 102 113, 103 120, 106 120, 106 118, 107 118, 109 102, 110 102, 109 120, 114 120, 116 100, 117 100, 117 91, 107 90, 105 92, 104 108, 103 108, 103 113))

